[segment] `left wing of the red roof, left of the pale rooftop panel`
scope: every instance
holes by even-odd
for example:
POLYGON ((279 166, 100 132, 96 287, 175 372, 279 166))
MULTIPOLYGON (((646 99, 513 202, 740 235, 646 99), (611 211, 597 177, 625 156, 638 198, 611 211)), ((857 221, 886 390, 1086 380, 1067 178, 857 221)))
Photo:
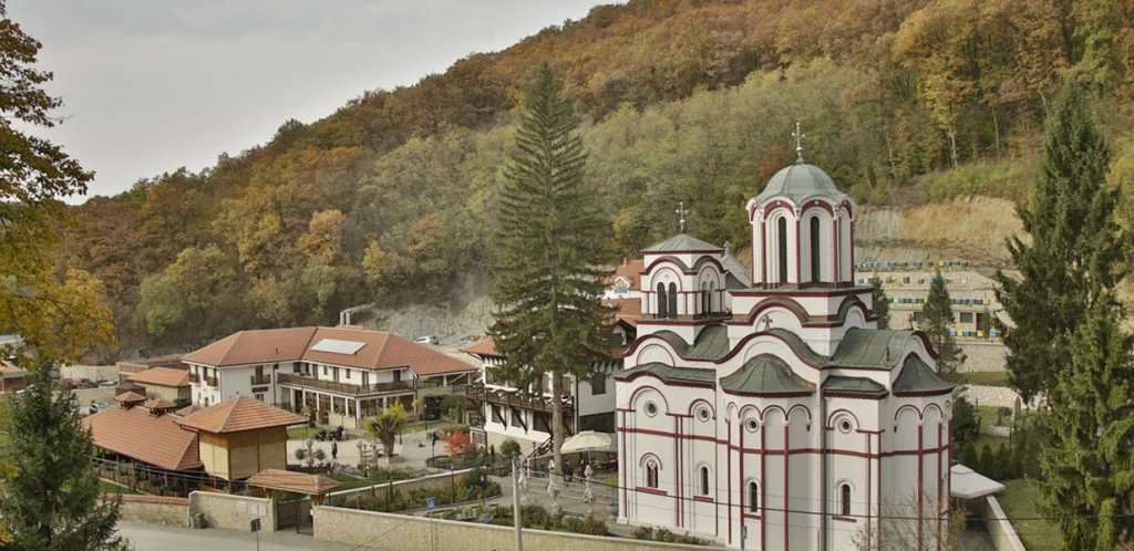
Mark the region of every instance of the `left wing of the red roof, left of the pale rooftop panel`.
POLYGON ((240 331, 187 354, 181 361, 215 367, 295 362, 314 334, 315 328, 240 331))

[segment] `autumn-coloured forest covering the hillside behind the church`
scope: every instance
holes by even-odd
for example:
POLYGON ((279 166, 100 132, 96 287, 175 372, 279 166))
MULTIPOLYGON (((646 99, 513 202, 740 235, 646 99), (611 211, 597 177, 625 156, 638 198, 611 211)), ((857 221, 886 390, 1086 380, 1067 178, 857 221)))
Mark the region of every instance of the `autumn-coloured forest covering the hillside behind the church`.
MULTIPOLYGON (((794 160, 796 121, 805 159, 861 204, 1026 202, 1065 78, 1091 91, 1111 181, 1134 181, 1131 0, 632 0, 74 207, 56 262, 105 285, 121 348, 99 359, 484 295, 543 61, 627 256, 676 231, 679 201, 691 232, 744 247, 743 205, 794 160)), ((1132 209, 1124 192, 1124 226, 1132 209)))

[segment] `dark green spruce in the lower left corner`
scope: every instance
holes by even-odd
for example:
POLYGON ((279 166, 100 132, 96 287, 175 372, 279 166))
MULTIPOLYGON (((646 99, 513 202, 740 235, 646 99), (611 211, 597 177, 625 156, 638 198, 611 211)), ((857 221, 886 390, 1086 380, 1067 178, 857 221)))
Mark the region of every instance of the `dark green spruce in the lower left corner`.
POLYGON ((115 533, 118 500, 99 495, 90 433, 79 425, 70 389, 60 387, 51 370, 39 361, 31 385, 11 400, 7 460, 14 473, 3 481, 0 517, 12 549, 103 549, 115 533))

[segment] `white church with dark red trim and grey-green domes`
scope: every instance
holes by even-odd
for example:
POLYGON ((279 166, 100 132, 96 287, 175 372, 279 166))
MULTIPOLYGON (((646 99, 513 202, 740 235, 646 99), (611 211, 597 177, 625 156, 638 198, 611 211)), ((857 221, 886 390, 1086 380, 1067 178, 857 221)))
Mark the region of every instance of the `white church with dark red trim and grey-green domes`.
POLYGON ((881 546, 895 510, 947 531, 953 385, 924 333, 878 329, 854 283, 856 204, 797 151, 746 205, 743 278, 684 207, 682 232, 643 251, 616 375, 620 524, 760 550, 881 546))

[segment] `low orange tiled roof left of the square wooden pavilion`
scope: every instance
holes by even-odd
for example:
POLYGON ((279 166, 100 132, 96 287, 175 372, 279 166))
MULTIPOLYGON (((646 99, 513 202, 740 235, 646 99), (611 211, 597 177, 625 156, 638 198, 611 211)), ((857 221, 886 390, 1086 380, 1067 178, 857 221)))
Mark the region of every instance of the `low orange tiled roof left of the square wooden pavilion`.
POLYGON ((176 415, 153 416, 143 407, 110 408, 83 419, 95 446, 170 471, 200 468, 197 435, 176 415))

